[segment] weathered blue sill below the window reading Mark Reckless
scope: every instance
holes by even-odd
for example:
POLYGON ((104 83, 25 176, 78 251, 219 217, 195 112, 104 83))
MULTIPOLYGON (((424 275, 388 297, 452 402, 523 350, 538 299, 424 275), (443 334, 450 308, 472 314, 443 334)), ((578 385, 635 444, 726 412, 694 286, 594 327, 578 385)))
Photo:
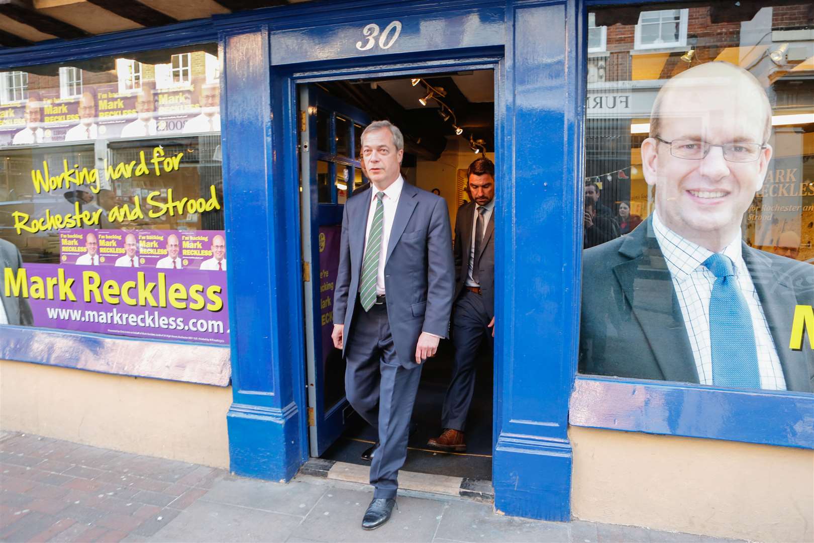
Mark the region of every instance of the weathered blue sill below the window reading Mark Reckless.
POLYGON ((0 326, 0 360, 219 387, 230 379, 225 347, 28 326, 0 326))

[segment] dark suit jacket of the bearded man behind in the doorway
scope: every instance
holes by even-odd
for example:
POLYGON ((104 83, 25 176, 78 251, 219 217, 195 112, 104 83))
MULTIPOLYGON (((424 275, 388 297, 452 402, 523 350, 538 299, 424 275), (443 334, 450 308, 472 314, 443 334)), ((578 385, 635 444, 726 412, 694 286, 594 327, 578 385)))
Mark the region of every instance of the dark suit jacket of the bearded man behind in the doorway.
MULTIPOLYGON (((463 204, 455 217, 455 300, 461 295, 469 274, 469 256, 472 247, 472 222, 475 221, 475 202, 463 204)), ((495 316, 495 211, 486 225, 484 240, 480 243, 479 282, 480 296, 490 317, 495 316)))

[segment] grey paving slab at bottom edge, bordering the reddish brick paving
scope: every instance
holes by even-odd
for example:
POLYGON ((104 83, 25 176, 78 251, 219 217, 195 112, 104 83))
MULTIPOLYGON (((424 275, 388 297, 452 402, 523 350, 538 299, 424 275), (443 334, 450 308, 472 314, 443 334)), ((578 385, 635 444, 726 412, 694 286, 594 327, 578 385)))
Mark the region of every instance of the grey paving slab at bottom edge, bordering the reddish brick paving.
POLYGON ((213 501, 197 501, 172 523, 155 532, 154 541, 286 541, 302 517, 213 501))

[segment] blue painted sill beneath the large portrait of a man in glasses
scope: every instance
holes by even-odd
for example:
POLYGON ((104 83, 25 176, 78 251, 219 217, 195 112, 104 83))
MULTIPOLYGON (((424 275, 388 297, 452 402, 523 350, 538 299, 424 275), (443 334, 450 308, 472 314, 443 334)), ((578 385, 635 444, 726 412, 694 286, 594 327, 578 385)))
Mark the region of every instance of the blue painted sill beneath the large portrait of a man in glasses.
POLYGON ((578 376, 573 426, 814 449, 814 396, 578 376))

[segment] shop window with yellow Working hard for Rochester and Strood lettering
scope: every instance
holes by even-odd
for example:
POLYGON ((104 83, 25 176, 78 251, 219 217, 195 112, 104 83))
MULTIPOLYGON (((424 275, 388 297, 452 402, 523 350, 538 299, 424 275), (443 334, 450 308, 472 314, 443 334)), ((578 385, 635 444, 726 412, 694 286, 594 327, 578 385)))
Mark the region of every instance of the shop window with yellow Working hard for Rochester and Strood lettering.
POLYGON ((206 55, 217 46, 2 74, 0 294, 13 302, 0 322, 229 343, 206 55))

